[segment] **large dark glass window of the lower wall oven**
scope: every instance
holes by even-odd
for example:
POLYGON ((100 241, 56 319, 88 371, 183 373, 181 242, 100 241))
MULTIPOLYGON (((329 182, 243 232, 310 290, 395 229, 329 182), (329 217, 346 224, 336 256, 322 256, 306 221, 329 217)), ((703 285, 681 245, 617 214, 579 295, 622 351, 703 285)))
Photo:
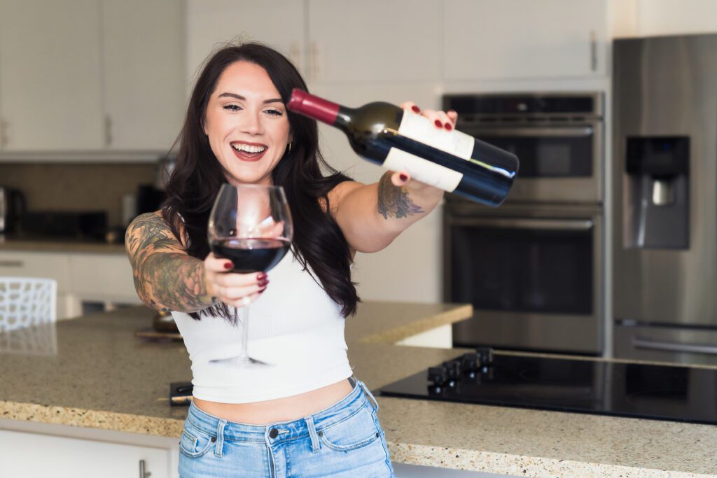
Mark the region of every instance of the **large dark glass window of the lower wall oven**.
POLYGON ((453 226, 452 302, 475 310, 592 314, 593 233, 453 226))

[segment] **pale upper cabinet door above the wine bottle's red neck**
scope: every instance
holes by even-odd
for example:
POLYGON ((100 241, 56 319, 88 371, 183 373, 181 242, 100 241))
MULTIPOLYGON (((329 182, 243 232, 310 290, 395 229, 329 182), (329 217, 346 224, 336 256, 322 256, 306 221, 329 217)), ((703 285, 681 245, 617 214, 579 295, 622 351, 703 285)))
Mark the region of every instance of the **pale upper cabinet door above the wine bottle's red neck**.
POLYGON ((308 0, 310 81, 440 78, 441 2, 308 0))

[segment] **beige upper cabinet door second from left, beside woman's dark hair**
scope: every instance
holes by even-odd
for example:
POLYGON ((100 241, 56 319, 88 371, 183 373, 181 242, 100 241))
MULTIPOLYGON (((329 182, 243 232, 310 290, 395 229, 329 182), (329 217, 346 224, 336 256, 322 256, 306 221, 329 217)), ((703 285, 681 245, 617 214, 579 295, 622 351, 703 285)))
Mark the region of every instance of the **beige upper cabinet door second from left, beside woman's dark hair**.
POLYGON ((168 150, 186 105, 181 0, 103 0, 108 147, 168 150))

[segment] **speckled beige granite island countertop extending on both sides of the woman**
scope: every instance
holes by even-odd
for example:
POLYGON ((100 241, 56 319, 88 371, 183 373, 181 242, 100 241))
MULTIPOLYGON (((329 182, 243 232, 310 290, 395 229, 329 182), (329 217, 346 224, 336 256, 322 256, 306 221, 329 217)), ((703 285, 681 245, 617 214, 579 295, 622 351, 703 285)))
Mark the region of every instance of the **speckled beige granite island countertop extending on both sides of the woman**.
MULTIPOLYGON (((357 377, 381 388, 467 349, 391 345, 470 316, 470 306, 366 302, 347 321, 357 377)), ((191 376, 181 343, 147 343, 145 307, 0 334, 0 417, 176 437, 191 376)), ((717 476, 717 427, 378 397, 397 462, 531 477, 717 476)))

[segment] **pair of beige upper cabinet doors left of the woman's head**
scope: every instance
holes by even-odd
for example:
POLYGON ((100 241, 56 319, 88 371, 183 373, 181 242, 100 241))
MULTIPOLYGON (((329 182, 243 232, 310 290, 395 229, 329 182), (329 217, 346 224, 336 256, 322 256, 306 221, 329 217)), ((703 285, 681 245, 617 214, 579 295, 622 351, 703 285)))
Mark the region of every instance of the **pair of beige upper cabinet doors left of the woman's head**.
POLYGON ((183 5, 0 0, 0 148, 168 150, 186 104, 183 5))

